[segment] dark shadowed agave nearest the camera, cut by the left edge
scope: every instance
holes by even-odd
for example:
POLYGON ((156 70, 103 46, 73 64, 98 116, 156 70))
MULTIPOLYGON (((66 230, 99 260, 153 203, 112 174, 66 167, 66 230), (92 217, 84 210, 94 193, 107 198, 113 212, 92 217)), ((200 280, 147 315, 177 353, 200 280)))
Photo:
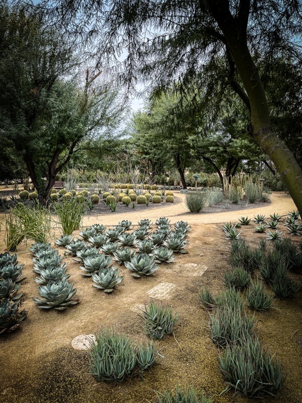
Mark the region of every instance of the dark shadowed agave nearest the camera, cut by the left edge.
POLYGON ((2 298, 0 300, 0 334, 17 329, 26 315, 26 310, 19 311, 19 303, 2 298))

